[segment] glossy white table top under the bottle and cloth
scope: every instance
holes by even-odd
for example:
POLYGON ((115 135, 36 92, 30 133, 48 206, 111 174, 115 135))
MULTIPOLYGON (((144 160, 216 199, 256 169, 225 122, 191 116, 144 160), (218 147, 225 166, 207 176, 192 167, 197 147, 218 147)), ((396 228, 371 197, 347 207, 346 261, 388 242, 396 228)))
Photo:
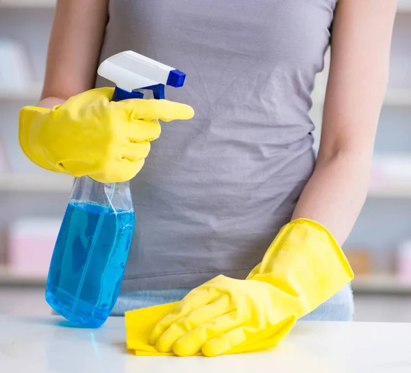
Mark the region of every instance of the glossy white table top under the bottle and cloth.
POLYGON ((0 316, 0 372, 411 372, 411 324, 299 322, 271 351, 179 358, 129 354, 123 318, 97 330, 69 329, 59 320, 0 316))

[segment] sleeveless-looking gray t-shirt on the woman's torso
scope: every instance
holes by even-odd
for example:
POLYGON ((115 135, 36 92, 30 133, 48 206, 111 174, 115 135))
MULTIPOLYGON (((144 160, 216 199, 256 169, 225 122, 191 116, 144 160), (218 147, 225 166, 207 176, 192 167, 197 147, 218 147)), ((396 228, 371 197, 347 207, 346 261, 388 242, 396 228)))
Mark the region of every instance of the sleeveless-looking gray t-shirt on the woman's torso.
MULTIPOLYGON (((132 180, 123 292, 245 278, 312 174, 308 115, 336 0, 112 0, 101 60, 133 50, 187 74, 132 180)), ((97 86, 108 85, 98 78, 97 86)))

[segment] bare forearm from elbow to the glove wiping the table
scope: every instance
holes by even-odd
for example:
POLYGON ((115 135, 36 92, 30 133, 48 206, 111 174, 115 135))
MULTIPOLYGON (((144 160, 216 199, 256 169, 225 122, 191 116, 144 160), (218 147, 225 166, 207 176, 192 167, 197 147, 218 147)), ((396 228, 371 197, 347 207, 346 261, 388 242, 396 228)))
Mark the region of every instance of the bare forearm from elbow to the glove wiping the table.
POLYGON ((323 224, 343 245, 364 205, 370 168, 369 155, 350 151, 319 159, 292 218, 323 224))

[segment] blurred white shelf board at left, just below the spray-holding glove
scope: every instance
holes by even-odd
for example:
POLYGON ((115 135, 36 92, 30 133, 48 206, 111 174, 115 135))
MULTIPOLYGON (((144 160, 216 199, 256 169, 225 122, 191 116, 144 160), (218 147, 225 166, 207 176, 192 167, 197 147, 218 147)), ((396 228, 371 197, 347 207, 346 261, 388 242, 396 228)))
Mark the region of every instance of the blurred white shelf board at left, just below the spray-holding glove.
POLYGON ((56 175, 0 175, 0 192, 70 192, 73 179, 56 175))

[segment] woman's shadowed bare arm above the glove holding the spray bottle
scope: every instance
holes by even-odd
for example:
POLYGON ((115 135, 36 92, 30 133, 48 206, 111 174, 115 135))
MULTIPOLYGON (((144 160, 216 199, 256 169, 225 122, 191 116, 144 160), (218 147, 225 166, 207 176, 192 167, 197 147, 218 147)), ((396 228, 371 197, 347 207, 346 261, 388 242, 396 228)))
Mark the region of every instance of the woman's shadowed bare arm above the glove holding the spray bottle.
POLYGON ((107 19, 108 0, 58 0, 39 106, 94 88, 107 19))

